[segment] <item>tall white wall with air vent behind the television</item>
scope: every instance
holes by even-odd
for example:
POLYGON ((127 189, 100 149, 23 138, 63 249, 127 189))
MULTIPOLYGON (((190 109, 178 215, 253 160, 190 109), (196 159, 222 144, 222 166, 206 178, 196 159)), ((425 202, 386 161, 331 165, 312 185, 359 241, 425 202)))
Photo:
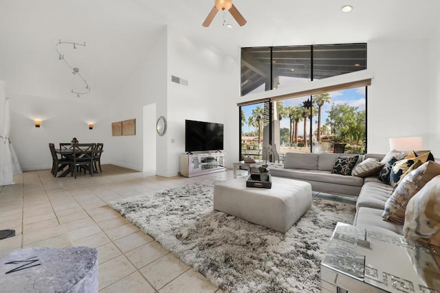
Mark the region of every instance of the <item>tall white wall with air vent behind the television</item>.
POLYGON ((179 171, 179 154, 185 152, 185 119, 224 124, 227 164, 239 158, 238 108, 240 67, 215 49, 168 29, 168 172, 179 171), (188 80, 188 86, 171 82, 171 75, 188 80), (175 143, 171 142, 172 139, 175 143))

